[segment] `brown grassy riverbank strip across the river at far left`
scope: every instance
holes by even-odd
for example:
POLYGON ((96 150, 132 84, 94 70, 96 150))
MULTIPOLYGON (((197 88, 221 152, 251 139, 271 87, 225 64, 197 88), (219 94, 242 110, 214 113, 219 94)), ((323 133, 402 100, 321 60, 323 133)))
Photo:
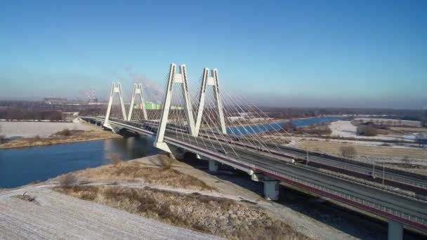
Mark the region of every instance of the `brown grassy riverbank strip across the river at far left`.
POLYGON ((63 129, 58 133, 53 133, 47 138, 39 136, 31 138, 20 138, 15 140, 8 140, 0 144, 0 149, 11 149, 19 147, 37 147, 46 145, 58 145, 71 142, 85 142, 93 140, 107 140, 114 138, 122 138, 121 135, 112 133, 110 131, 103 131, 100 128, 95 130, 68 130, 63 129))

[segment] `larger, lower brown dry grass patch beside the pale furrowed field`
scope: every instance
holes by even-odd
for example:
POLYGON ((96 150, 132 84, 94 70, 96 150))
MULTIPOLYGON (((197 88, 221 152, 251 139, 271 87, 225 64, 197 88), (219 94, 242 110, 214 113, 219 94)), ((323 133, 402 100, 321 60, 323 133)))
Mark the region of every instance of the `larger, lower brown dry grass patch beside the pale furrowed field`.
POLYGON ((56 188, 70 194, 227 239, 308 239, 259 208, 230 199, 124 187, 56 188))

